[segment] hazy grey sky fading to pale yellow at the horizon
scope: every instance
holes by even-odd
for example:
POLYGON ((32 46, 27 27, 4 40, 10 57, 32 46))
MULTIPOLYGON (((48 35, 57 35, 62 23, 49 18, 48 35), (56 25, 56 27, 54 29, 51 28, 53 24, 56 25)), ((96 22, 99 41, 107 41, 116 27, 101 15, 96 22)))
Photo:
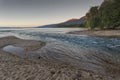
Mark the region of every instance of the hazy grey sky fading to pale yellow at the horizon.
POLYGON ((39 26, 80 18, 103 0, 0 0, 0 26, 39 26))

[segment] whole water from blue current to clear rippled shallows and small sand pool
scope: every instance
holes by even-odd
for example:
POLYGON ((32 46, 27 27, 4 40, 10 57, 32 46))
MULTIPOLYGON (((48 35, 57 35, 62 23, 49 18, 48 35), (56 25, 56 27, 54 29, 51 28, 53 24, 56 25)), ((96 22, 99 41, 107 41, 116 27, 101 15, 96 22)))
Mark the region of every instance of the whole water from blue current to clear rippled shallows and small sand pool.
MULTIPOLYGON (((116 64, 120 63, 119 38, 65 34, 66 30, 63 32, 60 32, 60 30, 57 31, 56 29, 42 30, 41 28, 0 30, 1 37, 17 36, 22 39, 47 42, 45 47, 33 52, 25 52, 23 48, 13 45, 8 45, 3 50, 25 58, 37 60, 42 58, 52 62, 76 65, 79 68, 102 74, 105 74, 104 65, 107 64, 105 61, 110 60, 116 64)), ((67 29, 68 31, 69 29, 67 29)), ((109 66, 109 64, 107 65, 109 66)))

